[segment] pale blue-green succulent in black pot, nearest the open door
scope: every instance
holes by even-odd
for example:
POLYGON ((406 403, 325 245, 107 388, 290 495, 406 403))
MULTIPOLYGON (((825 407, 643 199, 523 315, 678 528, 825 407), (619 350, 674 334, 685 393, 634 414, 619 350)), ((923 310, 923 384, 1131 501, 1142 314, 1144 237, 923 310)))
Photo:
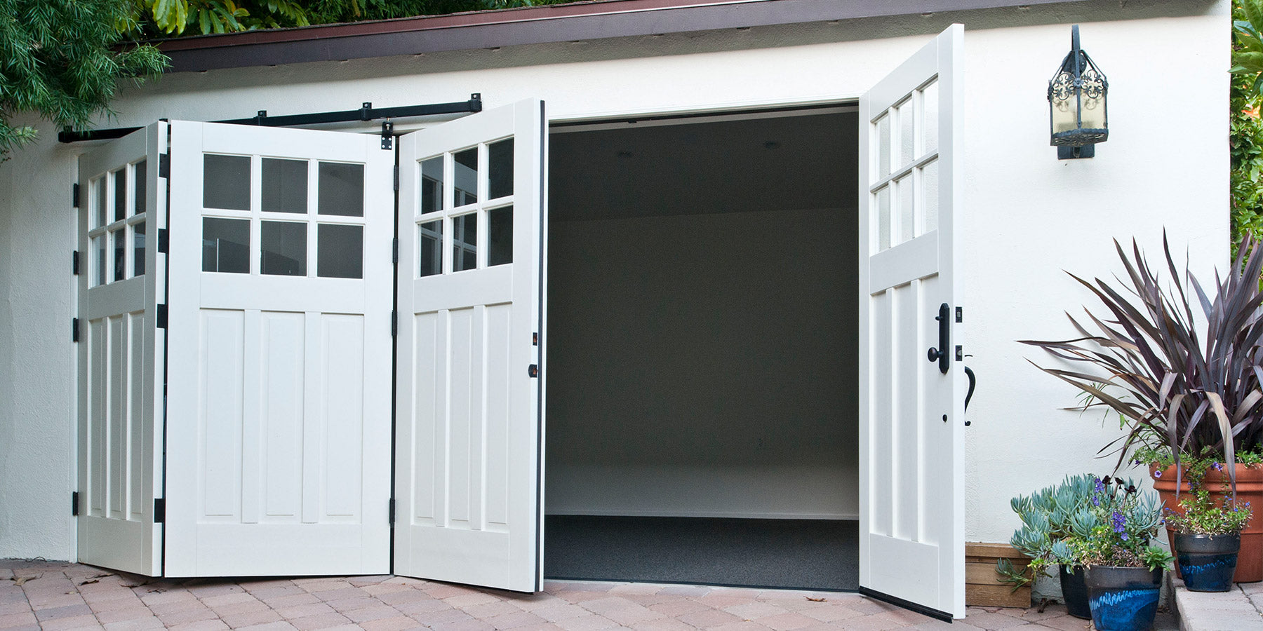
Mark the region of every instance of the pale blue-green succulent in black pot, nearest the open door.
MULTIPOLYGON (((1066 540, 1075 533, 1075 524, 1089 524, 1092 497, 1099 480, 1091 473, 1066 476, 1057 486, 1050 486, 1009 501, 1013 512, 1022 519, 1022 528, 1013 531, 1009 544, 1031 558, 1024 572, 1019 572, 1008 559, 997 562, 995 573, 1014 589, 1048 575, 1048 568, 1060 568, 1061 594, 1071 616, 1090 618, 1087 588, 1084 586, 1084 568, 1075 564, 1066 540)), ((1086 531, 1085 531, 1086 533, 1086 531)))

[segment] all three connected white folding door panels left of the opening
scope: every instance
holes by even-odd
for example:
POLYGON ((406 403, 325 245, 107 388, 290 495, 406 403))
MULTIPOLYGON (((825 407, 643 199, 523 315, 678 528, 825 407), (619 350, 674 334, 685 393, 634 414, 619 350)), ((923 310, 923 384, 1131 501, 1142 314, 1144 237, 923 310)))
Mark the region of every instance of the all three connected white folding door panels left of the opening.
POLYGON ((394 475, 399 573, 538 589, 543 129, 437 125, 399 172, 376 135, 184 121, 85 155, 80 559, 385 573, 394 475))

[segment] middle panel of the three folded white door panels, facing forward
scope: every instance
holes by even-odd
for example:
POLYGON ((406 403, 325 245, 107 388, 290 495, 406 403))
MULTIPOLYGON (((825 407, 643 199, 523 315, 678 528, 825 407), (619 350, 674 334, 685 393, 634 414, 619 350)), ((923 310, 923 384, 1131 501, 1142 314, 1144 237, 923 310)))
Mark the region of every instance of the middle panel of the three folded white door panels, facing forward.
POLYGON ((165 574, 389 570, 394 151, 171 124, 165 574))

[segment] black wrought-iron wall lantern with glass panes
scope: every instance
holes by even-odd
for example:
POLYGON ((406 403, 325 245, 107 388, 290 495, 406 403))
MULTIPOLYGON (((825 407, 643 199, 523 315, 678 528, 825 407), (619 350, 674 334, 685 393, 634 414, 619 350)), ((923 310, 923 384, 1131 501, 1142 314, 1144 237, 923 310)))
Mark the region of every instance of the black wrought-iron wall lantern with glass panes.
POLYGON ((1058 159, 1092 158, 1096 143, 1109 139, 1105 95, 1109 81, 1079 48, 1079 25, 1070 29, 1070 54, 1048 81, 1052 145, 1058 159))

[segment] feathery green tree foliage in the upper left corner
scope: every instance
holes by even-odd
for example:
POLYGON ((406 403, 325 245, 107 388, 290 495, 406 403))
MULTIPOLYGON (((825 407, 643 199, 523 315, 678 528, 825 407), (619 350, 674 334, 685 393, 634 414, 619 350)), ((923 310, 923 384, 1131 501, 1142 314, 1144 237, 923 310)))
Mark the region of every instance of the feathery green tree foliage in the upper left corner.
POLYGON ((15 114, 86 125, 120 78, 162 72, 157 48, 117 48, 130 16, 128 0, 0 0, 0 156, 35 138, 15 114))

